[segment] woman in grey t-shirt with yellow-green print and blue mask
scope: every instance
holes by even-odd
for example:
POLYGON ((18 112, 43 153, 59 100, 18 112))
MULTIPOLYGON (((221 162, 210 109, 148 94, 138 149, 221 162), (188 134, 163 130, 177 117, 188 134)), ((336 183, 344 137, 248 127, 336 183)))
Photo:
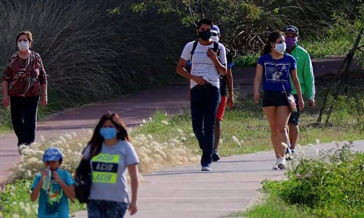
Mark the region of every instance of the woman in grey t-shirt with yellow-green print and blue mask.
POLYGON ((116 113, 108 112, 101 117, 83 158, 90 159, 92 168, 88 218, 122 218, 128 204, 130 214, 135 214, 139 160, 126 127, 116 113), (124 173, 126 168, 131 178, 131 201, 124 173))

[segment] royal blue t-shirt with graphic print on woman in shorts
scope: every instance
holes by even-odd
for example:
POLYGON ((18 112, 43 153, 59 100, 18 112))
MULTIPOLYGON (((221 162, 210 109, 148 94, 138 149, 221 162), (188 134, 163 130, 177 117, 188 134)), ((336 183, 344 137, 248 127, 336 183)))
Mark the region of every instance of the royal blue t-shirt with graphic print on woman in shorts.
POLYGON ((263 90, 282 92, 282 84, 286 91, 291 91, 291 71, 296 69, 297 64, 294 57, 284 54, 279 60, 273 60, 270 54, 262 55, 258 62, 263 66, 263 90))

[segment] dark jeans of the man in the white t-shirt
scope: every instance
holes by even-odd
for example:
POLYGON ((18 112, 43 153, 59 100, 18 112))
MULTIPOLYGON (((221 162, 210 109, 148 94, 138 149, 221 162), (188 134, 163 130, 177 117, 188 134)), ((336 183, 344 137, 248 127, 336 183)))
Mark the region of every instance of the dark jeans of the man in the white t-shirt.
POLYGON ((192 128, 202 150, 202 166, 212 163, 216 110, 219 102, 220 90, 211 84, 197 85, 191 89, 192 128))

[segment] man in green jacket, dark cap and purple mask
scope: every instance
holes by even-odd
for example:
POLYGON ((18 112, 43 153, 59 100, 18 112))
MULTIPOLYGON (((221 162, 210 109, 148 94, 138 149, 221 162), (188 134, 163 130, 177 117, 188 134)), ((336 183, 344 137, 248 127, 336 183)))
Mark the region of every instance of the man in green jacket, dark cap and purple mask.
MULTIPOLYGON (((299 84, 301 86, 302 95, 305 95, 308 99, 308 107, 314 108, 314 70, 309 53, 298 45, 298 29, 295 26, 286 26, 284 28, 285 41, 287 45, 287 52, 292 55, 297 62, 297 74, 299 84)), ((298 105, 298 95, 295 86, 292 83, 292 93, 296 99, 296 105, 298 105)), ((295 147, 298 139, 298 122, 299 122, 300 109, 297 107, 297 112, 291 114, 288 127, 289 127, 289 141, 292 154, 296 154, 295 147)), ((287 149, 288 151, 288 149, 287 149)))

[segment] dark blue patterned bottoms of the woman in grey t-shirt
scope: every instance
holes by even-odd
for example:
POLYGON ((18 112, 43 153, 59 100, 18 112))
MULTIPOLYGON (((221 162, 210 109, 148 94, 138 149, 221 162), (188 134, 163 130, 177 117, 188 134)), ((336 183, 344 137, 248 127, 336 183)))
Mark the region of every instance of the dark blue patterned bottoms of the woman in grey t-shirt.
POLYGON ((123 218, 127 207, 125 202, 90 200, 87 215, 88 218, 123 218))

